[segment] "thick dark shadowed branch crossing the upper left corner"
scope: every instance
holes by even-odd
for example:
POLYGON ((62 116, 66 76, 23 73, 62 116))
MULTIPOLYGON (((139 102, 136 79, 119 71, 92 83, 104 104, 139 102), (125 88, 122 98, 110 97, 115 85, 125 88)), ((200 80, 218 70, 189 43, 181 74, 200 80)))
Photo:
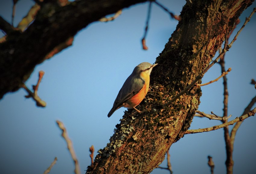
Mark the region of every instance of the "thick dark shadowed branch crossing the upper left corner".
POLYGON ((79 30, 108 14, 145 1, 86 0, 60 7, 56 1, 45 0, 24 33, 8 30, 6 41, 0 43, 0 99, 18 90, 37 64, 56 53, 79 30))

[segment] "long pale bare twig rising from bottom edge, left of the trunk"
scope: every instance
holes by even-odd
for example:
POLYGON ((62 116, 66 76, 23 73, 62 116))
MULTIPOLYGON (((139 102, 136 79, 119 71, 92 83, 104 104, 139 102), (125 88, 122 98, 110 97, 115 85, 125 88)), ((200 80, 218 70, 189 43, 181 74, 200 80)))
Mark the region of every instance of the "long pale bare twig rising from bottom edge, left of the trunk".
POLYGON ((78 160, 77 160, 74 148, 73 148, 73 144, 72 144, 72 141, 68 137, 67 130, 66 130, 65 126, 63 125, 63 123, 61 121, 57 120, 56 123, 58 124, 59 128, 62 130, 62 134, 61 135, 66 140, 67 145, 68 145, 68 150, 69 150, 69 152, 71 154, 72 159, 74 160, 74 163, 75 163, 74 172, 76 174, 81 174, 80 167, 79 167, 79 164, 78 164, 78 160))

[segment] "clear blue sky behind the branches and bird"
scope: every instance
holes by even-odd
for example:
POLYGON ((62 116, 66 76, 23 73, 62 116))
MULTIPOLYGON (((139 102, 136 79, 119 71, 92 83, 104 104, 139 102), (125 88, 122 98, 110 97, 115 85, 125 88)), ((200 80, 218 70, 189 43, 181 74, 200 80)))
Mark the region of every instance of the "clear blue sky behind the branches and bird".
MULTIPOLYGON (((0 2, 0 15, 11 21, 12 1, 0 2)), ((184 1, 159 1, 174 14, 179 14, 184 1)), ((16 6, 14 25, 26 15, 33 1, 20 0, 16 6)), ((249 16, 254 2, 240 17, 242 26, 249 16)), ((121 108, 108 118, 107 114, 133 68, 141 62, 154 63, 175 30, 177 21, 153 4, 147 51, 142 50, 148 4, 132 6, 122 11, 114 21, 94 22, 81 30, 71 47, 38 65, 26 85, 31 89, 38 79, 38 72, 45 75, 38 95, 47 103, 46 108, 36 107, 27 93, 20 89, 8 93, 0 101, 0 173, 43 173, 58 158, 52 174, 73 173, 74 164, 61 137, 56 120, 65 124, 77 154, 82 173, 90 165, 89 147, 104 148, 113 135, 115 125, 122 118, 121 108)), ((226 54, 229 90, 229 111, 234 119, 242 114, 256 94, 252 78, 256 79, 256 17, 245 26, 237 41, 226 54)), ((236 31, 234 32, 234 34, 236 31)), ((2 33, 1 33, 2 34, 2 33)), ((234 34, 231 36, 233 38, 234 34)), ((3 35, 0 35, 3 36, 3 35)), ((214 65, 204 76, 203 83, 220 76, 220 66, 214 65)), ((202 87, 203 95, 199 110, 222 115, 223 79, 202 87)), ((255 105, 254 105, 255 107, 255 105)), ((190 129, 220 124, 207 118, 193 119, 190 129)), ((234 174, 256 171, 256 119, 250 117, 240 126, 234 145, 234 174)), ((232 126, 230 126, 232 127, 232 126)), ((96 154, 96 153, 95 153, 96 154)), ((210 173, 207 156, 213 157, 215 173, 225 173, 225 143, 223 129, 212 132, 185 135, 170 149, 172 168, 175 173, 210 173)), ((160 165, 166 167, 166 160, 160 165)), ((163 169, 154 174, 167 174, 163 169)))

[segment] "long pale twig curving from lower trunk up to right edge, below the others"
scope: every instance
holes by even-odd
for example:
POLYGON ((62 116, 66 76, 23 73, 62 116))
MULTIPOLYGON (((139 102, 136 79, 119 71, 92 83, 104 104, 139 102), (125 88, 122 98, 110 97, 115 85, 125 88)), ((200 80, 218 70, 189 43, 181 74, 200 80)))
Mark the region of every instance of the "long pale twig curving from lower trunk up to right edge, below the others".
POLYGON ((247 114, 241 116, 241 117, 236 117, 234 120, 229 121, 227 123, 223 123, 221 125, 218 126, 213 126, 213 127, 209 127, 209 128, 204 128, 204 129, 191 129, 191 130, 187 130, 184 134, 193 134, 193 133, 200 133, 200 132, 209 132, 209 131, 213 131, 216 129, 220 129, 229 125, 233 125, 239 121, 243 121, 248 117, 254 116, 254 114, 256 113, 256 107, 251 110, 250 112, 248 112, 247 114))

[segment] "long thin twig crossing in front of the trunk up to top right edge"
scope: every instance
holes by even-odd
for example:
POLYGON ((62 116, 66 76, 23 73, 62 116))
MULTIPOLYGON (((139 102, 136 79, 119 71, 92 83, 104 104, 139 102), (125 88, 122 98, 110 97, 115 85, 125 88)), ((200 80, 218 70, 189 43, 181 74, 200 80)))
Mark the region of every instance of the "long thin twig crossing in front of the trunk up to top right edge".
MULTIPOLYGON (((251 13, 250 17, 246 18, 246 21, 244 23, 244 25, 241 27, 241 29, 239 30, 239 32, 237 32, 237 34, 235 35, 235 38, 232 40, 232 44, 235 42, 236 38, 238 37, 238 35, 241 33, 242 29, 245 27, 245 25, 248 23, 248 19, 251 18, 252 14, 254 14, 254 12, 256 11, 256 8, 253 9, 253 12, 251 13)), ((226 45, 226 39, 225 39, 225 45, 227 48, 224 47, 224 49, 222 50, 222 52, 219 54, 219 56, 208 66, 206 67, 198 76, 195 77, 195 80, 193 82, 191 82, 190 85, 188 85, 185 89, 183 89, 181 92, 179 92, 177 95, 175 95, 166 105, 170 106, 170 104, 174 101, 176 101, 181 95, 185 94, 185 92, 187 92, 188 90, 190 90, 196 83, 198 80, 200 80, 204 74, 216 63, 219 61, 219 59, 226 53, 226 51, 228 51, 231 47, 232 44, 230 43, 229 45, 226 45)))

